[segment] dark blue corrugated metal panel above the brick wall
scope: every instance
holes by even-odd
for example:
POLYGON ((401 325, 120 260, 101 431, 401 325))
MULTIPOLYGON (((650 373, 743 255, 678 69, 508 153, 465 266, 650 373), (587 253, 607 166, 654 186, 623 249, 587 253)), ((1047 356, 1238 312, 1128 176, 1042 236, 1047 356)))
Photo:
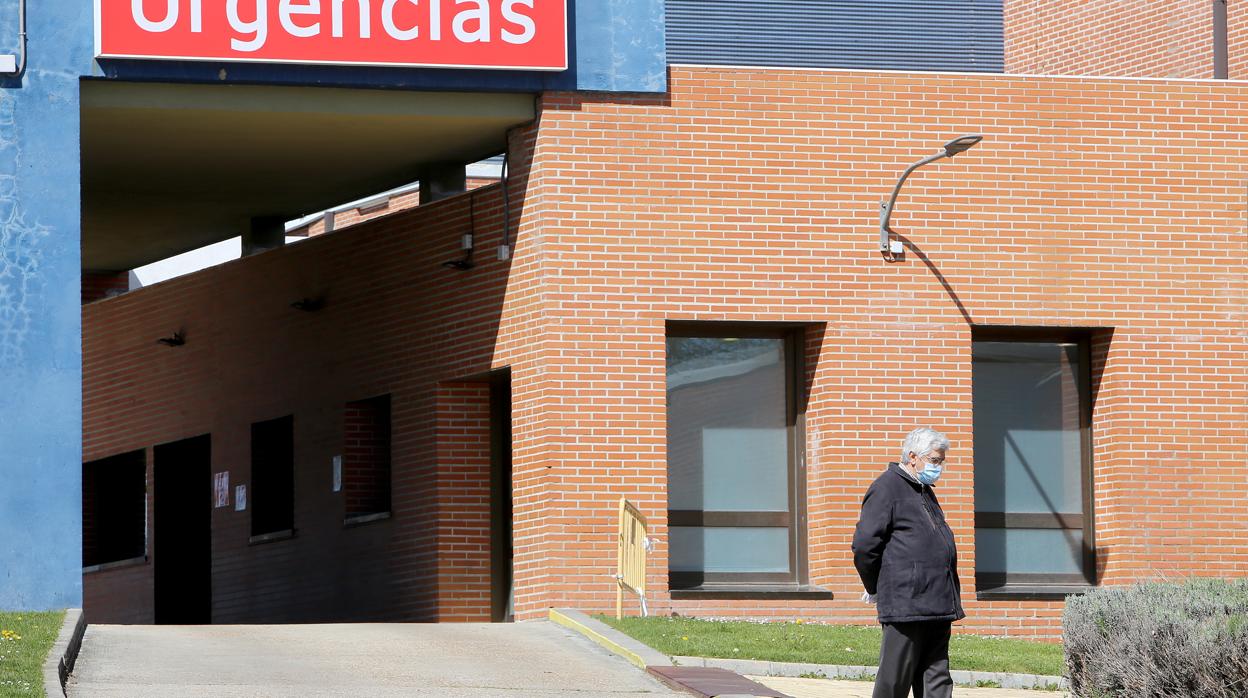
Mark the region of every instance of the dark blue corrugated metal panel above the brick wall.
POLYGON ((1002 72, 1002 0, 668 0, 668 61, 1002 72))

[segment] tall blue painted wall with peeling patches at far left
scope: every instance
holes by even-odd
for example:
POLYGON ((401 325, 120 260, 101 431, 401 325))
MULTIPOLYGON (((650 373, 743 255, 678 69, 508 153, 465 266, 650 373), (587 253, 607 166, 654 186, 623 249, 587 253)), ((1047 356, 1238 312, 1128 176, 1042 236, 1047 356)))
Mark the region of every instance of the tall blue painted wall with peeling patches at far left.
MULTIPOLYGON (((0 52, 16 52, 15 1, 0 52)), ((0 608, 81 606, 79 76, 91 4, 34 0, 30 62, 0 77, 0 608)))

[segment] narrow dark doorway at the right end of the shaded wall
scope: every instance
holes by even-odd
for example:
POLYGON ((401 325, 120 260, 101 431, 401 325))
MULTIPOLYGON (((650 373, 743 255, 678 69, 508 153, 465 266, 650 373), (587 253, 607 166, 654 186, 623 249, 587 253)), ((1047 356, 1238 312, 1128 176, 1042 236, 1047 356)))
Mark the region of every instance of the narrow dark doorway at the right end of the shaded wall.
POLYGON ((489 618, 509 623, 512 612, 512 372, 489 383, 489 618))

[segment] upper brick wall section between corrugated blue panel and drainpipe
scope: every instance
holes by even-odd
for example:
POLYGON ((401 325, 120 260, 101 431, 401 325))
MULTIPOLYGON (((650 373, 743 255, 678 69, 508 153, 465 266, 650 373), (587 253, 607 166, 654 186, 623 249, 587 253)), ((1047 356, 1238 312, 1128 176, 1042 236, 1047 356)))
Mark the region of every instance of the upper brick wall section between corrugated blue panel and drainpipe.
POLYGON ((1006 72, 1213 77, 1209 0, 1005 0, 1005 41, 1006 72))

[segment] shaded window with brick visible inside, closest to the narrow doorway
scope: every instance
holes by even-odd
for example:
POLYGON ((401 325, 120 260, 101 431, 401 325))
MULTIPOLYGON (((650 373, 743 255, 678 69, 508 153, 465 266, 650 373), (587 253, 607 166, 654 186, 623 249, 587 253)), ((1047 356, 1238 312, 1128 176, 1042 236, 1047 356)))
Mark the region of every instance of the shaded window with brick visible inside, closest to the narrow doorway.
POLYGON ((389 396, 348 402, 343 416, 342 489, 347 519, 391 509, 389 396))

